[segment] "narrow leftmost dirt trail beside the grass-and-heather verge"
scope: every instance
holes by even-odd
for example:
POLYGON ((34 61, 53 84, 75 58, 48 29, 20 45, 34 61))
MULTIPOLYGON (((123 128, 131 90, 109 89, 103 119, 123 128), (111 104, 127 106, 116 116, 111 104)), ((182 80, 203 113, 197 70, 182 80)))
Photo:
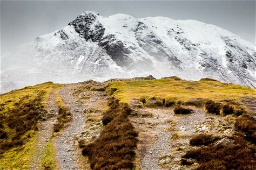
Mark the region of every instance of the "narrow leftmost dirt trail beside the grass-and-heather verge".
POLYGON ((57 121, 56 116, 58 114, 58 105, 56 103, 56 97, 53 93, 50 93, 48 97, 48 102, 46 104, 46 109, 48 110, 49 118, 46 121, 38 123, 38 133, 36 137, 37 143, 33 146, 35 154, 32 155, 32 162, 30 169, 42 169, 42 158, 45 150, 45 146, 53 135, 53 126, 57 121))

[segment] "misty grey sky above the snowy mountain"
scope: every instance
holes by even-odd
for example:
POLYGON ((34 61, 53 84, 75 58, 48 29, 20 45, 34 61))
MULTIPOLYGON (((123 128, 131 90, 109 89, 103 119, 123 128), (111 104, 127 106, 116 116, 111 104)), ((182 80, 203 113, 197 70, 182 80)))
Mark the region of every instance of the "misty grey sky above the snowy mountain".
POLYGON ((2 52, 68 25, 84 11, 102 16, 164 16, 217 25, 255 44, 254 1, 1 1, 2 52))

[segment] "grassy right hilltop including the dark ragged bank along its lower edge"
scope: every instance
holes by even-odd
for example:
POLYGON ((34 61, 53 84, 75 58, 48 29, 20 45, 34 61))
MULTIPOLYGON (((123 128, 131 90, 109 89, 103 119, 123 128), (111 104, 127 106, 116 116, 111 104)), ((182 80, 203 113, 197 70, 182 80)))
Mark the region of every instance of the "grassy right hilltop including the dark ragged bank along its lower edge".
POLYGON ((173 104, 203 106, 207 100, 244 107, 246 98, 256 98, 256 90, 249 87, 207 78, 186 81, 175 76, 157 80, 110 82, 106 90, 121 102, 137 101, 138 107, 173 104))

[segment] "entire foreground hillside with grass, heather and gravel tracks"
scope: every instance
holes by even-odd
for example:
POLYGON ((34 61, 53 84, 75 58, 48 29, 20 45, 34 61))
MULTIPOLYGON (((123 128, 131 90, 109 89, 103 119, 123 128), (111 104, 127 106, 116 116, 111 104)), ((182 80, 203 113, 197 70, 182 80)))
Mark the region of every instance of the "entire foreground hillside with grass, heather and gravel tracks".
POLYGON ((255 168, 255 100, 176 76, 25 87, 0 95, 0 168, 255 168))

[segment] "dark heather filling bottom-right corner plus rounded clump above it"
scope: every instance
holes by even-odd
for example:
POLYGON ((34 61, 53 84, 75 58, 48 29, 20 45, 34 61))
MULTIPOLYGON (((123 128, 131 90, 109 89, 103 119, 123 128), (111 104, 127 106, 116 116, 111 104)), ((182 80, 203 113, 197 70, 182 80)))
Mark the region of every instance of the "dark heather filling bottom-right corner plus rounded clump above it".
POLYGON ((230 144, 210 144, 191 149, 183 158, 196 159, 199 162, 197 169, 256 169, 255 119, 242 115, 235 122, 235 130, 237 132, 230 137, 233 140, 230 144))

